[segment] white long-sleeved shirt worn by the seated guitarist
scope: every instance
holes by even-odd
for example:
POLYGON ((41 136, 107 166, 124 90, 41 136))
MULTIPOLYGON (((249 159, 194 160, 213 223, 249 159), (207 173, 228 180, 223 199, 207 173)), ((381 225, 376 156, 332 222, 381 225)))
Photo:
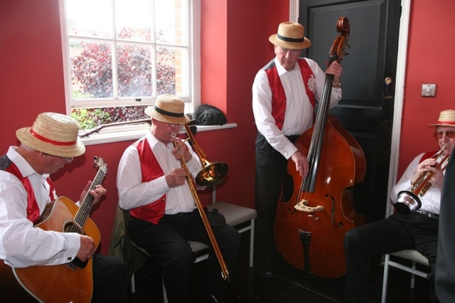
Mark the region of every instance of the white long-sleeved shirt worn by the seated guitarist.
MULTIPOLYGON (((7 156, 28 178, 40 213, 50 202, 48 175, 36 173, 17 147, 9 147, 7 156)), ((0 170, 0 258, 11 267, 61 265, 74 259, 80 248, 78 233, 60 233, 34 228, 27 219, 27 192, 16 176, 0 170)), ((45 277, 43 277, 45 279, 45 277)))

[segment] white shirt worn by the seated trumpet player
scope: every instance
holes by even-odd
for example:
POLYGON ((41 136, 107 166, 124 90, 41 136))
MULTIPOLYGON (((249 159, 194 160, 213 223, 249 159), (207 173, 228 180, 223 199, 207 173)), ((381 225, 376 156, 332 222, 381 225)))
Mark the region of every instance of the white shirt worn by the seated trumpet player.
MULTIPOLYGON (((419 154, 411 161, 410 165, 407 166, 405 173, 400 178, 400 181, 392 188, 392 193, 390 199, 393 203, 397 201, 398 193, 400 191, 411 191, 411 179, 414 176, 414 172, 417 171, 417 166, 419 165, 420 159, 424 154, 419 154)), ((441 156, 437 158, 437 161, 441 161, 441 156)), ((445 174, 445 171, 443 172, 445 174)), ((439 215, 439 205, 441 203, 441 191, 438 188, 432 186, 429 188, 427 193, 424 196, 419 196, 420 201, 422 202, 421 211, 428 211, 429 213, 436 213, 439 215)))

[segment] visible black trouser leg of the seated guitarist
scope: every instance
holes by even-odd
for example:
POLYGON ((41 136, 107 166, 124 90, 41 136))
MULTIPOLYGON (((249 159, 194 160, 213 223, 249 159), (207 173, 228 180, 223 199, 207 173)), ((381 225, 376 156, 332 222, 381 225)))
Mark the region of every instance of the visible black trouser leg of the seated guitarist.
POLYGON ((92 302, 127 302, 127 270, 117 257, 93 255, 92 302))

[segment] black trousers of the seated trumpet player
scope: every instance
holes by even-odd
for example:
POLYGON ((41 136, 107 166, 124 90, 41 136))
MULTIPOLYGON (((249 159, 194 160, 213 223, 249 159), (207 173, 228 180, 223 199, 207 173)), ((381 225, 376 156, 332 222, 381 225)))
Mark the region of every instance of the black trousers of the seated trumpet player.
POLYGON ((430 274, 429 296, 434 302, 434 271, 437 255, 438 220, 421 213, 409 216, 395 213, 348 230, 344 238, 346 257, 346 295, 368 297, 370 258, 389 252, 414 249, 428 258, 430 274))

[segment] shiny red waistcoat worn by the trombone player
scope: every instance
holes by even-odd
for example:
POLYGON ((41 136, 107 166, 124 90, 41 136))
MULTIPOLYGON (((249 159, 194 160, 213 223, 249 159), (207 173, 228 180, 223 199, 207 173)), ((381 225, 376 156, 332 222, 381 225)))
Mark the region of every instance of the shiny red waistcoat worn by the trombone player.
MULTIPOLYGON (((142 182, 148 182, 154 179, 157 179, 164 175, 163 169, 159 166, 156 156, 151 151, 149 142, 147 139, 140 139, 133 144, 137 151, 139 152, 139 161, 141 162, 141 176, 142 182)), ((166 194, 161 196, 156 201, 151 201, 151 203, 145 206, 139 206, 137 208, 132 208, 129 213, 132 216, 139 218, 141 220, 146 220, 151 223, 157 224, 159 220, 164 216, 164 211, 166 210, 166 194)))

